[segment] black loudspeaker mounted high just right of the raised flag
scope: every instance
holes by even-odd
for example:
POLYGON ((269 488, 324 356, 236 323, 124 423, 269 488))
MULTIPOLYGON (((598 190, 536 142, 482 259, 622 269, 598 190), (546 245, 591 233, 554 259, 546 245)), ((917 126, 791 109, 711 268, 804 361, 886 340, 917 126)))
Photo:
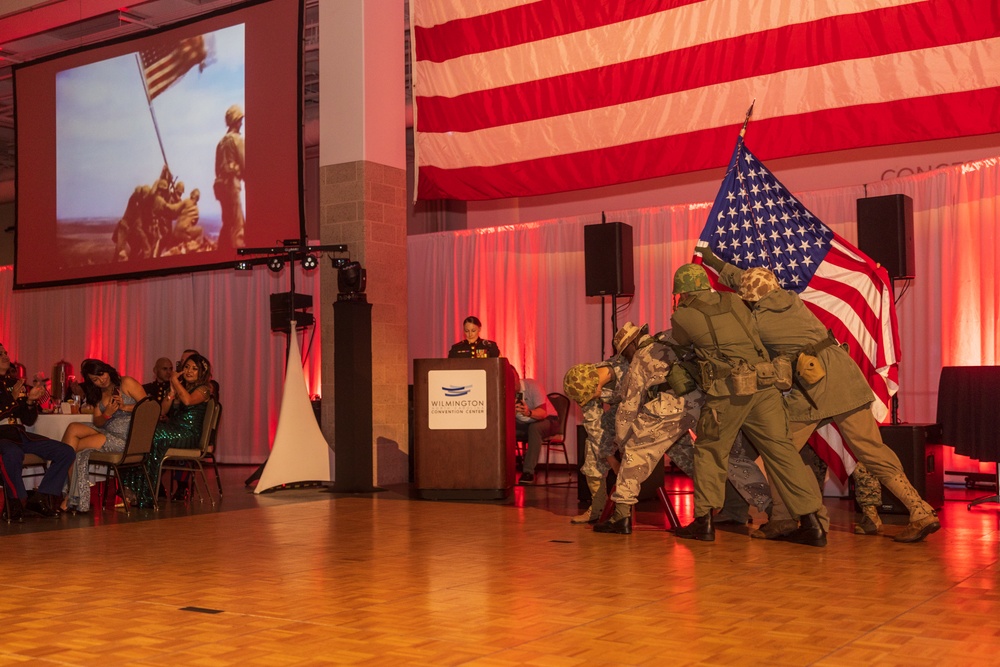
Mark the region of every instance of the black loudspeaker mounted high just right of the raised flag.
POLYGON ((913 278, 913 200, 906 195, 858 200, 858 249, 885 267, 889 277, 913 278))

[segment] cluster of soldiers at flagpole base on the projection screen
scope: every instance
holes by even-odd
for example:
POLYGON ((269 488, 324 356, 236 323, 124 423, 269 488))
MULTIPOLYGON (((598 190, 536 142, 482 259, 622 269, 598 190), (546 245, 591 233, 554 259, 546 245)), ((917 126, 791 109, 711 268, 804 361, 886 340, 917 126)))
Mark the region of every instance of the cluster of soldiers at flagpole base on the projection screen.
POLYGON ((200 199, 197 188, 185 198, 184 182, 174 180, 164 166, 153 185, 140 185, 132 191, 111 236, 115 261, 213 250, 198 224, 200 199))

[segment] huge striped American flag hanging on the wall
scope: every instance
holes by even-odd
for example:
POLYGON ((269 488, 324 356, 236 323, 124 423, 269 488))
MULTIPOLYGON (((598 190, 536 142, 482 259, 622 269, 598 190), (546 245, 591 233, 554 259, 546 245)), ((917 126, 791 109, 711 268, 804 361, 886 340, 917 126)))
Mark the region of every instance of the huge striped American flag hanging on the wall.
POLYGON ((418 197, 1000 131, 997 0, 410 0, 418 197))

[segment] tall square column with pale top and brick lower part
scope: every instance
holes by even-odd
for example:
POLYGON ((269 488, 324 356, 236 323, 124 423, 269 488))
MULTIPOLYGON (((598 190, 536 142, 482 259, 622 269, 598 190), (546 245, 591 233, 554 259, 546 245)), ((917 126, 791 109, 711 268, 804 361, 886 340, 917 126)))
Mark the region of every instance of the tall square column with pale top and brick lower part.
MULTIPOLYGON (((376 485, 406 482, 409 471, 404 27, 402 0, 319 3, 320 242, 347 244, 368 272, 376 485)), ((334 451, 337 291, 326 261, 322 421, 334 451)))

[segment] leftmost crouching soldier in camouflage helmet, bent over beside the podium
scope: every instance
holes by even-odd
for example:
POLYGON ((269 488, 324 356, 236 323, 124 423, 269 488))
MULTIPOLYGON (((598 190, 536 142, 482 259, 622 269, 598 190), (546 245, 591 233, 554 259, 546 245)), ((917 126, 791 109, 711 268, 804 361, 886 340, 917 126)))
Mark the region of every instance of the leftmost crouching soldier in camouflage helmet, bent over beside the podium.
POLYGON ((615 415, 621 402, 622 379, 627 371, 628 362, 617 354, 599 364, 573 366, 563 380, 566 396, 583 410, 587 441, 580 473, 587 478, 592 499, 590 508, 570 519, 570 523, 597 523, 608 500, 605 480, 611 461, 615 460, 615 415))

